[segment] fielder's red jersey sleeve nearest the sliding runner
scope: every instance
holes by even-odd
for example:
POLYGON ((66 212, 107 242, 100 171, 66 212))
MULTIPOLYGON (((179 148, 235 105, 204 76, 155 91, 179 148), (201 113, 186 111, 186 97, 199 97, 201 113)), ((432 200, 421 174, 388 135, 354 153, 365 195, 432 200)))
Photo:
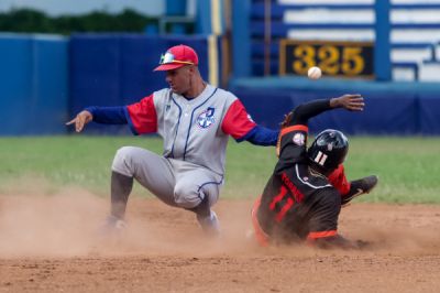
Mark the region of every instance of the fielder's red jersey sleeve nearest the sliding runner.
POLYGON ((224 133, 232 135, 234 139, 240 139, 255 126, 256 123, 251 119, 251 116, 246 112, 246 109, 244 109, 243 104, 237 99, 232 102, 224 115, 221 130, 224 133))

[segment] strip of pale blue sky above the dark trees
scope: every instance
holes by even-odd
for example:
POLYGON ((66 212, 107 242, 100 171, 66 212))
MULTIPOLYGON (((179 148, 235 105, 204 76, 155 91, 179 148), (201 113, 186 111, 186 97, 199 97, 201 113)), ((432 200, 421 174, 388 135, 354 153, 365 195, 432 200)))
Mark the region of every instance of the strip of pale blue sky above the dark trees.
POLYGON ((165 12, 165 0, 0 0, 0 11, 11 8, 34 8, 51 15, 81 14, 92 10, 120 12, 132 8, 147 15, 165 12))

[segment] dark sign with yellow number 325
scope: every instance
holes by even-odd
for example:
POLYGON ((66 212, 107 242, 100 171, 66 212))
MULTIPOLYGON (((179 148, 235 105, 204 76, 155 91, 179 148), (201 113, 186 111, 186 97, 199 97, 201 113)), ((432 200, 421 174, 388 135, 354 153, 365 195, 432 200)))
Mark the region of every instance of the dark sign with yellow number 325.
POLYGON ((327 76, 373 78, 373 43, 293 40, 279 43, 280 75, 307 75, 311 66, 318 66, 327 76))

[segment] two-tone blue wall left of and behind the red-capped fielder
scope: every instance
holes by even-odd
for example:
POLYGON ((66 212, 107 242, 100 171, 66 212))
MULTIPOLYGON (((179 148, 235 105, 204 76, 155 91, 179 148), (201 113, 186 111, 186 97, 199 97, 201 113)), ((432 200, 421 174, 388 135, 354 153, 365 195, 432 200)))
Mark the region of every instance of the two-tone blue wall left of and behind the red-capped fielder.
MULTIPOLYGON (((207 36, 0 33, 0 135, 65 134, 65 122, 87 106, 131 104, 166 87, 153 68, 178 44, 198 52, 207 79, 218 76, 221 62, 210 66, 209 58, 221 59, 212 53, 219 43, 207 36)), ((98 126, 86 132, 129 133, 98 126)))

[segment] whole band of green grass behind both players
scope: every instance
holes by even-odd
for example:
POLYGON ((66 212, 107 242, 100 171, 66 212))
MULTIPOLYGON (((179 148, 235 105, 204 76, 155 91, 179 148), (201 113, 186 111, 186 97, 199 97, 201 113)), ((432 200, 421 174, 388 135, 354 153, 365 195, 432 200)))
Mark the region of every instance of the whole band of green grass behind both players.
MULTIPOLYGON (((106 196, 113 155, 123 145, 162 152, 157 138, 0 138, 0 193, 13 193, 20 186, 42 182, 47 194, 78 186, 106 196)), ((359 200, 440 204, 439 154, 440 138, 351 138, 345 170, 349 178, 370 174, 381 178, 377 188, 359 200)), ((256 197, 275 162, 274 148, 231 141, 221 196, 256 197)), ((135 186, 134 193, 147 194, 140 186, 135 186)))

